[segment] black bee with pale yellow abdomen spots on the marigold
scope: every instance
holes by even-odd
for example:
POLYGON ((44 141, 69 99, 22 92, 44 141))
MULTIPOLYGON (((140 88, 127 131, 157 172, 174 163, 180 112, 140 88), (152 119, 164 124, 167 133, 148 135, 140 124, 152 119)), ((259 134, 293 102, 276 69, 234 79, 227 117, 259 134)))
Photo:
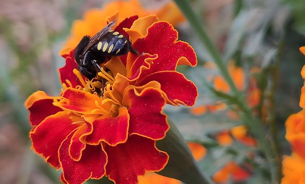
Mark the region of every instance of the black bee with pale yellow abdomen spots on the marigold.
POLYGON ((75 49, 74 57, 79 71, 90 80, 101 71, 100 64, 106 59, 124 55, 129 51, 139 55, 125 36, 112 29, 115 23, 116 21, 109 23, 92 38, 84 36, 75 49))

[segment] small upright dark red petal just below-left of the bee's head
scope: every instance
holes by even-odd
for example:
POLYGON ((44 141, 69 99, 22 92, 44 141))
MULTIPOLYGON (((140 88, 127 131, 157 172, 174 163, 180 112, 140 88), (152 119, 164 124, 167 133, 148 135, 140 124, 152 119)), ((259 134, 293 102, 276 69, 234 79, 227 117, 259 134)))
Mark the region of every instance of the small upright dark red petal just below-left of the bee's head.
POLYGON ((74 59, 74 50, 70 52, 70 55, 63 55, 63 57, 65 58, 65 65, 59 69, 61 83, 65 83, 68 87, 75 88, 80 84, 77 82, 77 77, 73 73, 73 69, 77 69, 77 63, 74 59), (70 86, 66 80, 69 80, 72 86, 70 86))

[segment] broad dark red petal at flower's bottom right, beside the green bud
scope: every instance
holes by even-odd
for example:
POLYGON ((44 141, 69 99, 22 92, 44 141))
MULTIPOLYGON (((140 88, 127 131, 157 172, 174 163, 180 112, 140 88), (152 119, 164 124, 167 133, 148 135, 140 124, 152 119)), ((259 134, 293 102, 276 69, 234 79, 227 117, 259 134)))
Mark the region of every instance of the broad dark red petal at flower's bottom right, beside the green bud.
POLYGON ((160 171, 169 156, 155 146, 155 141, 138 136, 129 136, 127 141, 117 146, 105 146, 108 154, 106 176, 116 184, 137 184, 138 176, 146 171, 160 171))

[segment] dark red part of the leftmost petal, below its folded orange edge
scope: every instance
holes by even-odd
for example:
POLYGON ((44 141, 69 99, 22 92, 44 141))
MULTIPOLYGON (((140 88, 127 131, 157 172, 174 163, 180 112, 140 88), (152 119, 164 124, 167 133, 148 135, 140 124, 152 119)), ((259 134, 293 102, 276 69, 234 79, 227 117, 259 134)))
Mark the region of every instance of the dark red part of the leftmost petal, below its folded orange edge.
POLYGON ((30 125, 39 125, 46 117, 62 111, 60 107, 53 105, 53 99, 41 99, 35 101, 30 107, 30 125))

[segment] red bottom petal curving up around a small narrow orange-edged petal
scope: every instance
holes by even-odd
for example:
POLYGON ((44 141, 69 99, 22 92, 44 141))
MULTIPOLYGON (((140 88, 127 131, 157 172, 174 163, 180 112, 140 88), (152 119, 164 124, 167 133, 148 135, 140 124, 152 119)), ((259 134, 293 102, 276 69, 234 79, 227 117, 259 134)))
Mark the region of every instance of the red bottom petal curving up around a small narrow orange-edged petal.
POLYGON ((68 184, 82 184, 88 179, 100 179, 105 174, 107 155, 101 145, 87 145, 82 158, 74 161, 69 156, 69 145, 74 132, 61 144, 59 158, 62 166, 62 178, 68 184))

